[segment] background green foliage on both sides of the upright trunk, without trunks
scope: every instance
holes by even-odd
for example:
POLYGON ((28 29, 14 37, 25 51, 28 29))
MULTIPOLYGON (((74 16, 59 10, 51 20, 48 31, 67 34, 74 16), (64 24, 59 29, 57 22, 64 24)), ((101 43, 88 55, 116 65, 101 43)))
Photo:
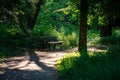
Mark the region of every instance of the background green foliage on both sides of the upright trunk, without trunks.
MULTIPOLYGON (((28 16, 35 9, 35 1, 0 1, 0 46, 10 49, 18 47, 41 49, 43 45, 41 36, 57 36, 59 40, 64 41, 63 48, 76 47, 80 24, 80 10, 78 8, 80 1, 74 0, 77 4, 76 7, 71 0, 46 0, 46 3, 41 7, 35 28, 29 31, 27 26, 28 16), (24 35, 24 29, 30 32, 29 36, 24 35)), ((109 1, 106 1, 108 4, 109 1)), ((103 38, 98 41, 100 39, 99 31, 96 31, 96 29, 99 29, 101 25, 108 24, 108 15, 103 15, 104 10, 102 8, 104 5, 101 2, 89 2, 89 4, 88 25, 90 26, 89 29, 94 28, 94 30, 88 30, 88 45, 96 43, 119 44, 119 41, 116 42, 116 39, 119 40, 120 36, 118 34, 120 33, 119 29, 113 33, 116 37, 103 38)), ((119 5, 114 6, 117 6, 119 11, 119 5)), ((115 13, 118 12, 117 10, 115 10, 115 13)), ((116 17, 114 15, 114 18, 116 17)))

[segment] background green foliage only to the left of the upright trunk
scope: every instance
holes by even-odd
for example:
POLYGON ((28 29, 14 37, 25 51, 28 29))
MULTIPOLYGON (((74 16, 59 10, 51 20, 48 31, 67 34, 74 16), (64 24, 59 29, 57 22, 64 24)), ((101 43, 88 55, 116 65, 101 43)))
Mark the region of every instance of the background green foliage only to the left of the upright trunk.
MULTIPOLYGON (((10 21, 0 25, 1 45, 9 48, 41 49, 43 45, 41 36, 57 36, 59 40, 64 41, 64 48, 76 47, 78 44, 79 20, 77 17, 79 17, 79 10, 76 9, 75 5, 72 5, 68 0, 46 0, 46 3, 41 7, 35 28, 29 31, 27 19, 29 13, 35 8, 34 4, 34 1, 20 0, 19 3, 11 6, 10 21), (29 31, 30 35, 25 36, 24 30, 29 31)), ((5 5, 4 8, 8 9, 6 4, 3 5, 5 5)), ((7 14, 4 17, 7 17, 7 14)))

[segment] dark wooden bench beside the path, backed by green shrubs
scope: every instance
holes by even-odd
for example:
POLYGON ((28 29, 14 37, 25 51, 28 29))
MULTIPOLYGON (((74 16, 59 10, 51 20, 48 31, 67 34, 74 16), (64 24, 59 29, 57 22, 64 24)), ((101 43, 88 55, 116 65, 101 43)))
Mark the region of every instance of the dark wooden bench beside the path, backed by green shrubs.
POLYGON ((55 50, 57 46, 62 49, 63 41, 58 41, 56 36, 45 36, 43 40, 44 46, 49 47, 50 50, 55 50))

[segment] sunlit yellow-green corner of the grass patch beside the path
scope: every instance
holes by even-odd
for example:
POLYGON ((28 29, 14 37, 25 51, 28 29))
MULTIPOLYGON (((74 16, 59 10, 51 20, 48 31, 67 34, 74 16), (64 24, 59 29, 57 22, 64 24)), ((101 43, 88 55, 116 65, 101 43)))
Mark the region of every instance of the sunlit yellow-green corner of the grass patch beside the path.
POLYGON ((80 54, 70 53, 69 55, 63 57, 61 60, 57 61, 57 70, 60 75, 64 74, 64 77, 67 76, 66 72, 72 68, 74 62, 79 58, 80 54))

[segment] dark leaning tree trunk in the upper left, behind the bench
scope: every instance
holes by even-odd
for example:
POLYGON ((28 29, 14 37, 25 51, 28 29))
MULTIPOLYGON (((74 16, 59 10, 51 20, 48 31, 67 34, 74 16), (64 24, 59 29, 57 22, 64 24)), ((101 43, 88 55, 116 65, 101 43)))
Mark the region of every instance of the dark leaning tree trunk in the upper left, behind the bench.
POLYGON ((40 6, 42 5, 42 0, 39 0, 35 5, 35 10, 30 14, 28 18, 28 27, 29 29, 33 29, 40 11, 40 6))

